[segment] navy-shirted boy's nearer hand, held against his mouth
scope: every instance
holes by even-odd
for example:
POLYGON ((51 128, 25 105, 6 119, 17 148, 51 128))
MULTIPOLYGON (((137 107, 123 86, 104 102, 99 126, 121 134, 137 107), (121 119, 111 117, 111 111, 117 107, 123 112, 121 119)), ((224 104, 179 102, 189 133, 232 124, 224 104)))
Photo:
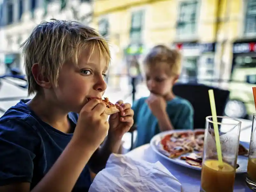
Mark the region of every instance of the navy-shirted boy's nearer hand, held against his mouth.
POLYGON ((107 136, 108 115, 106 105, 98 99, 90 100, 81 109, 73 138, 82 145, 96 150, 107 136))

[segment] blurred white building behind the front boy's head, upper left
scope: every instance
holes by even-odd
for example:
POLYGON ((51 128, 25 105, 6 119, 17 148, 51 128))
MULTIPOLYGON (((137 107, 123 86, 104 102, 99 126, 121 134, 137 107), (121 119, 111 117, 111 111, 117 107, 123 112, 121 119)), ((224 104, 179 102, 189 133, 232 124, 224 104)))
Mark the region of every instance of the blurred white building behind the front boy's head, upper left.
POLYGON ((14 67, 22 68, 23 59, 19 46, 42 20, 78 20, 87 24, 92 19, 91 12, 91 0, 2 0, 1 66, 3 63, 14 62, 14 67))

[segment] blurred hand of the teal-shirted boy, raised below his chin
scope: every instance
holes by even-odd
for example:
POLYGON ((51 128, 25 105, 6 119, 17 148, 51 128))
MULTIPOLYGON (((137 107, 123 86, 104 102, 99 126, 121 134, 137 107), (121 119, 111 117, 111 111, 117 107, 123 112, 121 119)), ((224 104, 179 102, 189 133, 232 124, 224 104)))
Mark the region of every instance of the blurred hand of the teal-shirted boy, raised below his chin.
POLYGON ((162 116, 166 112, 167 104, 162 96, 150 93, 150 96, 148 97, 146 102, 156 118, 162 116))

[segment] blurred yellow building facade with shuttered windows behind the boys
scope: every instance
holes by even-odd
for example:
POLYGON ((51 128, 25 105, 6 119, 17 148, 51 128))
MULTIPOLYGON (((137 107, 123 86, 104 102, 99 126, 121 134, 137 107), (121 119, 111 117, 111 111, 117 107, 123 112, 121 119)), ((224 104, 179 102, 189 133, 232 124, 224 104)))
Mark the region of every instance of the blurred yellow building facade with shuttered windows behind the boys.
POLYGON ((180 49, 183 54, 182 75, 185 79, 193 76, 198 79, 226 79, 231 74, 233 42, 244 38, 244 2, 96 0, 93 27, 102 31, 104 25, 100 28, 100 21, 108 21, 105 26, 114 50, 112 55, 117 63, 125 61, 124 58, 130 56, 125 50, 134 44, 131 41, 132 14, 143 11, 139 38, 143 51, 139 58, 152 46, 166 44, 180 49))

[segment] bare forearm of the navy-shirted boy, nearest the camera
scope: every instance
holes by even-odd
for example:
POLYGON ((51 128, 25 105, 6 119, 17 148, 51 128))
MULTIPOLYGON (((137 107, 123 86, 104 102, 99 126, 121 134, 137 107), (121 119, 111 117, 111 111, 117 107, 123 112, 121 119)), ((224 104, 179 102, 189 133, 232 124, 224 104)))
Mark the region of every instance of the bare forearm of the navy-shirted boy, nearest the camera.
POLYGON ((81 146, 79 142, 71 140, 56 163, 33 188, 32 192, 70 192, 93 152, 90 145, 88 147, 81 146))

